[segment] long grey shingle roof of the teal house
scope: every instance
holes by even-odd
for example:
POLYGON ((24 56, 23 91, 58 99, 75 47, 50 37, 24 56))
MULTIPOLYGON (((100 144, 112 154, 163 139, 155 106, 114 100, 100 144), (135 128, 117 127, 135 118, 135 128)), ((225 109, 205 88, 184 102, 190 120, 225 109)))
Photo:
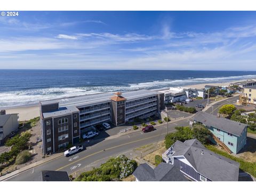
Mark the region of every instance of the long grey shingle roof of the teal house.
POLYGON ((206 126, 213 126, 215 128, 235 134, 237 136, 240 136, 243 130, 247 127, 246 124, 238 123, 230 119, 217 117, 203 112, 198 112, 191 119, 194 119, 197 122, 201 122, 206 126))

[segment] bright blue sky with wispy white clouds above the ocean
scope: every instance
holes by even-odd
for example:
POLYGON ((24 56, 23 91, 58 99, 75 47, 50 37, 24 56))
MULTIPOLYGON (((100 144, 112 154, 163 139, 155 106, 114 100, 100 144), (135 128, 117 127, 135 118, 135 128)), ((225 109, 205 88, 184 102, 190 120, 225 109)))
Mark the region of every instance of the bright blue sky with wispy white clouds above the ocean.
POLYGON ((256 70, 256 12, 21 11, 0 29, 2 69, 256 70))

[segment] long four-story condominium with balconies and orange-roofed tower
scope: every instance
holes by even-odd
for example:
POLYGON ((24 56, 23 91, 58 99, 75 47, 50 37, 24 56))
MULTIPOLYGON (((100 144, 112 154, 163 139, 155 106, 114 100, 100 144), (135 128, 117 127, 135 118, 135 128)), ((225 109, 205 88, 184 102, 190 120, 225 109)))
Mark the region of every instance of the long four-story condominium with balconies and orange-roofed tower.
POLYGON ((122 125, 134 118, 159 115, 164 94, 156 91, 98 93, 40 102, 44 154, 76 143, 94 125, 122 125))

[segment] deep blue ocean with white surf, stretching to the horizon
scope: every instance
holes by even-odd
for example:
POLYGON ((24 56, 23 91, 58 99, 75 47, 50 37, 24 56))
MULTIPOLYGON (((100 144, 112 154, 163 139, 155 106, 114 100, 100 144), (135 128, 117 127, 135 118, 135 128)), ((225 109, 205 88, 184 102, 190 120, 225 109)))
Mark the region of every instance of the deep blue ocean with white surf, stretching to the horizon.
POLYGON ((0 69, 0 108, 99 92, 160 89, 256 78, 256 71, 5 70, 0 69))

